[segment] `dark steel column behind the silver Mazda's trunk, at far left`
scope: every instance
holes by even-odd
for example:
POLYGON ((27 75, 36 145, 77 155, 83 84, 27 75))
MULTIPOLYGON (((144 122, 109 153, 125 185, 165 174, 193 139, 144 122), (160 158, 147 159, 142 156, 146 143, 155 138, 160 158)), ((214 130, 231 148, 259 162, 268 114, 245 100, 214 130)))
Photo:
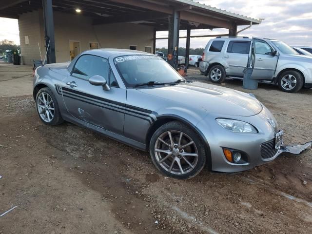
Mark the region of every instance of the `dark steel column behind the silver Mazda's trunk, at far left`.
POLYGON ((47 62, 56 63, 52 0, 42 0, 47 62), (50 42, 50 44, 49 44, 50 42), (49 45, 49 48, 48 48, 49 45))

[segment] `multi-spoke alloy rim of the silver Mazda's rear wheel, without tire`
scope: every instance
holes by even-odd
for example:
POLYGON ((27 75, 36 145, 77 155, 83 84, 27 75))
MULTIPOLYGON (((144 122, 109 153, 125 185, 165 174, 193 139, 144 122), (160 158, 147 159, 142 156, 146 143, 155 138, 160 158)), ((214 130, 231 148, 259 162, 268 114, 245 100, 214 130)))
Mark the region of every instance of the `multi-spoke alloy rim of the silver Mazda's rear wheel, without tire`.
POLYGON ((37 110, 39 113, 40 118, 49 123, 54 118, 54 103, 51 96, 46 93, 42 92, 37 98, 37 110))

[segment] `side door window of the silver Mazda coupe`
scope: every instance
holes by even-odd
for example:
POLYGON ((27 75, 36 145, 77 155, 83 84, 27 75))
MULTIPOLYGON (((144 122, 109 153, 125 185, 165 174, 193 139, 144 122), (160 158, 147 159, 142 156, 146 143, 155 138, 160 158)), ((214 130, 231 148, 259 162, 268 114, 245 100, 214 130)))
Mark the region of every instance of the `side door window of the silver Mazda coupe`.
POLYGON ((95 75, 108 79, 109 71, 107 59, 94 55, 82 55, 77 60, 72 75, 85 80, 95 75))

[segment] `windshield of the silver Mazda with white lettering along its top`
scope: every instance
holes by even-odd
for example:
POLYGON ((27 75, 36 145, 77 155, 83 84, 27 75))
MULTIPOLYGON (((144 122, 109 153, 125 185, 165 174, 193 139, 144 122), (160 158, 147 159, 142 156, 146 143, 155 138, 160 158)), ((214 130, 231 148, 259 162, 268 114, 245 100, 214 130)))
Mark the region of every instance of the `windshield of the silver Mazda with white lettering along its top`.
POLYGON ((114 59, 120 76, 128 87, 138 84, 171 83, 183 79, 165 60, 150 55, 128 55, 114 59))

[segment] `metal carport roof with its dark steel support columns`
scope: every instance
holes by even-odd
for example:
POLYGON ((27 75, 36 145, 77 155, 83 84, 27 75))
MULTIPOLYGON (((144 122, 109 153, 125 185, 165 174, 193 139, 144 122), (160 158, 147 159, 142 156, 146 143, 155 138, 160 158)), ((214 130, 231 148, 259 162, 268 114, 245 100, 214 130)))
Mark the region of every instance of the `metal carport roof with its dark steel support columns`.
POLYGON ((191 30, 226 28, 228 36, 237 35, 237 26, 261 23, 192 0, 0 0, 0 17, 19 19, 20 14, 43 9, 47 61, 56 62, 53 12, 81 14, 91 17, 93 25, 116 22, 135 22, 154 27, 154 53, 156 31, 169 31, 169 63, 177 66, 179 30, 187 30, 186 62, 188 62, 191 30))

